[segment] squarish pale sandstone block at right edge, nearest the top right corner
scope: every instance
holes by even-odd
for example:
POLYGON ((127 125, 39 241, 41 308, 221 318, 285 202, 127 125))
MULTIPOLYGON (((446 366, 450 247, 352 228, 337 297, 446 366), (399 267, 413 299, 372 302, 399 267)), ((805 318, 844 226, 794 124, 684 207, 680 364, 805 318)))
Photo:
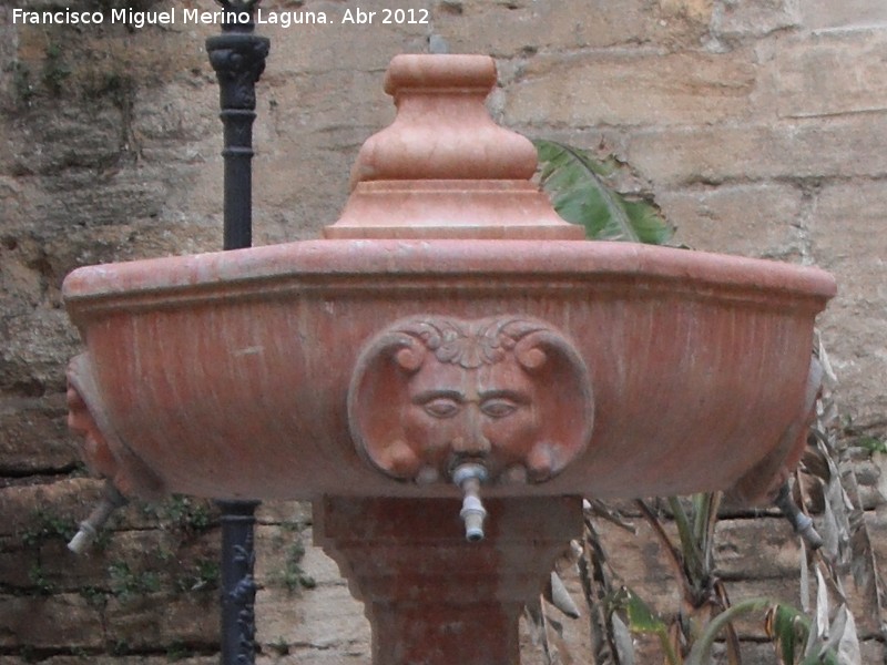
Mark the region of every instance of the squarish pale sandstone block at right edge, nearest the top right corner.
POLYGON ((779 117, 887 109, 887 25, 768 40, 757 53, 762 63, 759 103, 775 109, 779 117))

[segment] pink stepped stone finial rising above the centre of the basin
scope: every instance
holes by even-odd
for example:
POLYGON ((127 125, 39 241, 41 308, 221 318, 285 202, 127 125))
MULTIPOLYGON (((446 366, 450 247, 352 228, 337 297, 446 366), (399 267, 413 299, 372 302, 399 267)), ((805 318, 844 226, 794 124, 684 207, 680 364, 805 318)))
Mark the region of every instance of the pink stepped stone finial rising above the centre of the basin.
POLYGON ((533 144, 497 125, 486 55, 398 55, 385 79, 394 123, 370 136, 328 238, 582 239, 530 181, 533 144))

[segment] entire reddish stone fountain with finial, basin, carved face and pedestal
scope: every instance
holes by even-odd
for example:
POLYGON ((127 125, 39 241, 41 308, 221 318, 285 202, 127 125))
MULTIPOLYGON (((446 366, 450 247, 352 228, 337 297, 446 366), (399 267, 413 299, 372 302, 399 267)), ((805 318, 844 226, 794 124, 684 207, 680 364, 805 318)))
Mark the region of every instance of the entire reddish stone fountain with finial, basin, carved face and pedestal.
POLYGON ((835 293, 815 268, 582 239, 488 116, 495 83, 489 58, 396 58, 397 119, 324 239, 64 283, 92 467, 124 494, 313 500, 378 665, 517 663, 582 495, 771 498, 835 293))

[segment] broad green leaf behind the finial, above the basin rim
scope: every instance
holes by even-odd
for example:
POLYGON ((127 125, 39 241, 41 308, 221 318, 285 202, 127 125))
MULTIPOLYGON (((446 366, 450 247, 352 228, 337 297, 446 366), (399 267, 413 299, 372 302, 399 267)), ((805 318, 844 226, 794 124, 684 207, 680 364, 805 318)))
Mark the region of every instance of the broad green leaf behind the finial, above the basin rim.
POLYGON ((554 141, 536 140, 533 145, 542 190, 558 214, 584 226, 590 239, 664 245, 674 235, 655 204, 628 197, 606 184, 605 178, 620 168, 615 158, 600 160, 554 141))

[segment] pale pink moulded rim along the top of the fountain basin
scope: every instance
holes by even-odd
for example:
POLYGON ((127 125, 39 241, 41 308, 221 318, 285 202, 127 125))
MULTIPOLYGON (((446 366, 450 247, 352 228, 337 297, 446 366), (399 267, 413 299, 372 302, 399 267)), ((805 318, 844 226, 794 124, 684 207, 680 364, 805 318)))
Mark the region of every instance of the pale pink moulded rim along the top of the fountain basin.
POLYGON ((812 266, 606 241, 316 239, 86 266, 62 285, 75 320, 102 313, 274 297, 310 287, 359 289, 513 285, 552 290, 626 280, 700 298, 825 308, 835 278, 812 266), (460 282, 461 278, 461 282, 460 282), (717 289, 718 293, 712 293, 717 289), (805 305, 806 303, 806 305, 805 305))

